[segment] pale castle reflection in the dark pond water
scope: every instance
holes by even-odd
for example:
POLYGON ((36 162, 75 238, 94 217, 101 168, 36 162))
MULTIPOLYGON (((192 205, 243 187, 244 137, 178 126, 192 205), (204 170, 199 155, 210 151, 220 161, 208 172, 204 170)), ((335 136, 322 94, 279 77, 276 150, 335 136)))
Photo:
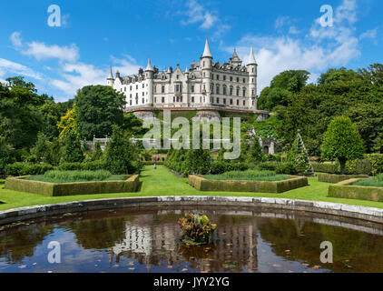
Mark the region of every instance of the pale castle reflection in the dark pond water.
POLYGON ((159 211, 126 221, 125 238, 112 247, 110 264, 113 260, 119 263, 125 257, 146 265, 148 271, 152 266, 182 267, 185 261, 192 269, 202 272, 257 270, 256 220, 243 217, 232 221, 230 216, 220 216, 220 221, 216 221, 214 216, 210 216, 211 221, 219 223, 211 237, 212 244, 184 247, 180 242, 180 226, 174 224, 177 215, 180 216, 181 212, 159 211))

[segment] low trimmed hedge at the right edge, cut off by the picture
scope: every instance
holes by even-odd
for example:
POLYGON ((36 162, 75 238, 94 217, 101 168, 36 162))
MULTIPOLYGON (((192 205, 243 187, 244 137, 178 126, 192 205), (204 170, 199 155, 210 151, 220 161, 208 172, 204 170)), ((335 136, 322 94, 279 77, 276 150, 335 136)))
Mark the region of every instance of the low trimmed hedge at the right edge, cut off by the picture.
POLYGON ((349 179, 329 186, 329 197, 383 202, 383 188, 353 186, 360 179, 349 179))

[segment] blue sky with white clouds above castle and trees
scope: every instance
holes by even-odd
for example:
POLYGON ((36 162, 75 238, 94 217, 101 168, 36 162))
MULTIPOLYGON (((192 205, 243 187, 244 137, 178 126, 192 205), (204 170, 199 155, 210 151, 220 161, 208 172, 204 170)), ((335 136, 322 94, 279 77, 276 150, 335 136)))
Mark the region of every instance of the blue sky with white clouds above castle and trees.
POLYGON ((152 65, 189 66, 209 35, 214 61, 234 47, 246 63, 250 45, 259 64, 259 91, 274 75, 306 69, 311 81, 329 67, 383 63, 381 0, 105 0, 6 1, 0 11, 0 82, 25 75, 56 101, 83 85, 106 84, 109 66, 122 75, 152 65), (47 24, 50 5, 61 27, 47 24), (323 27, 322 5, 333 8, 323 27))

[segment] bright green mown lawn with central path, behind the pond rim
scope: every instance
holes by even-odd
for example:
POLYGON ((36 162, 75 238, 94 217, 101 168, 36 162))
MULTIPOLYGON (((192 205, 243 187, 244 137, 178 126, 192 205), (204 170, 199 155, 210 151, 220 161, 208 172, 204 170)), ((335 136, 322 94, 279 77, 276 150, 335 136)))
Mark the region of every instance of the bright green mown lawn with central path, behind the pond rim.
POLYGON ((301 200, 316 200, 343 203, 358 206, 370 206, 383 208, 383 203, 327 197, 329 184, 318 182, 318 179, 309 178, 309 186, 291 190, 283 194, 264 194, 264 193, 232 193, 232 192, 200 192, 188 185, 187 179, 182 179, 172 175, 164 166, 145 166, 140 178, 142 187, 137 193, 103 194, 103 195, 83 195, 83 196, 64 196, 46 197, 35 194, 21 193, 5 190, 0 183, 0 210, 35 206, 44 204, 54 204, 87 199, 113 198, 113 197, 132 197, 132 196, 254 196, 254 197, 280 197, 301 200))

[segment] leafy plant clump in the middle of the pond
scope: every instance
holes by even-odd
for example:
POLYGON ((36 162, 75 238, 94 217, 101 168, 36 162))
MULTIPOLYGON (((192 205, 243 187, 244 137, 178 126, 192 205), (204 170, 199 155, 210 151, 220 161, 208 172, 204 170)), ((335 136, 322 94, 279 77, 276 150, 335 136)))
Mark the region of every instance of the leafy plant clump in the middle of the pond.
POLYGON ((201 246, 209 244, 211 234, 217 225, 211 224, 208 216, 185 214, 178 224, 182 229, 182 243, 185 246, 201 246))

